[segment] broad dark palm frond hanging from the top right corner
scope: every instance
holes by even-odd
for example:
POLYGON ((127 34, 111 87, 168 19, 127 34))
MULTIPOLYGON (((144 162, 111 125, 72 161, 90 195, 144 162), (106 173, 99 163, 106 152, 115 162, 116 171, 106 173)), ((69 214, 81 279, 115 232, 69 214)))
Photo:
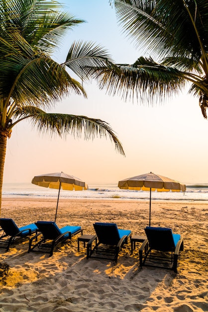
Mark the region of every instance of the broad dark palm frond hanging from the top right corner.
POLYGON ((136 47, 145 47, 153 55, 199 60, 199 37, 208 46, 206 0, 198 0, 197 6, 196 1, 188 0, 114 0, 114 5, 123 32, 136 47))

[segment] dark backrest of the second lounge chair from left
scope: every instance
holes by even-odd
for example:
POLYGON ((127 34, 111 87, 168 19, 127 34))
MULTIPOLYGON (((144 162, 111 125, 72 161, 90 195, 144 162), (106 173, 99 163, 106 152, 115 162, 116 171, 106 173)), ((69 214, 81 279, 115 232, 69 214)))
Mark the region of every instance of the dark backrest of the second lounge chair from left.
POLYGON ((61 231, 57 224, 54 221, 37 221, 35 222, 36 226, 43 234, 45 239, 56 239, 61 235, 61 231))

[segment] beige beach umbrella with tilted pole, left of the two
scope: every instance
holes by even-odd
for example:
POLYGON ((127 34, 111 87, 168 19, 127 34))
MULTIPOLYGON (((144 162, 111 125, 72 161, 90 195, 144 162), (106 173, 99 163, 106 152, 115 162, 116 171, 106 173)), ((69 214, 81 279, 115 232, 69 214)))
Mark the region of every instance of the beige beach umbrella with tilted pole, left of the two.
MULTIPOLYGON (((88 185, 80 180, 78 177, 73 175, 69 175, 64 172, 55 172, 55 173, 46 173, 36 175, 32 179, 32 183, 49 188, 56 188, 59 190, 58 192, 58 199, 56 205, 56 215, 58 210, 58 203, 59 203, 59 194, 60 189, 68 190, 68 191, 82 191, 84 189, 88 189, 88 185)), ((55 222, 56 222, 56 215, 55 215, 55 222)))

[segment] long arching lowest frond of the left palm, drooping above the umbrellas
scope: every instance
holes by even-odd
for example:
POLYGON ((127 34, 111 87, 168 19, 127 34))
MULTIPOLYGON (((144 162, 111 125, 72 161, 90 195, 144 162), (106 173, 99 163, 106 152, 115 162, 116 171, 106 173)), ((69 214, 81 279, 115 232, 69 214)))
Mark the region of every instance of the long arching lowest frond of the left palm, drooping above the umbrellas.
POLYGON ((110 141, 114 143, 116 151, 123 156, 125 155, 121 143, 109 124, 100 119, 68 114, 51 114, 32 106, 22 109, 16 108, 13 117, 17 119, 17 122, 30 118, 32 125, 37 127, 39 132, 43 134, 58 134, 60 137, 71 134, 79 138, 84 136, 85 140, 93 140, 95 137, 109 137, 110 141))

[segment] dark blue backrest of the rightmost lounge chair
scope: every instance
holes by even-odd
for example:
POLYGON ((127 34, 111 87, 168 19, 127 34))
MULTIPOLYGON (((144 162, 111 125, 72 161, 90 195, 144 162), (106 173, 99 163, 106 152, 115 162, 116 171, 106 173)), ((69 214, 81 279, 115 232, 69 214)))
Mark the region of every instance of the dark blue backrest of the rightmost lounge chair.
POLYGON ((175 250, 173 233, 170 228, 147 226, 144 230, 151 249, 158 251, 175 250))

